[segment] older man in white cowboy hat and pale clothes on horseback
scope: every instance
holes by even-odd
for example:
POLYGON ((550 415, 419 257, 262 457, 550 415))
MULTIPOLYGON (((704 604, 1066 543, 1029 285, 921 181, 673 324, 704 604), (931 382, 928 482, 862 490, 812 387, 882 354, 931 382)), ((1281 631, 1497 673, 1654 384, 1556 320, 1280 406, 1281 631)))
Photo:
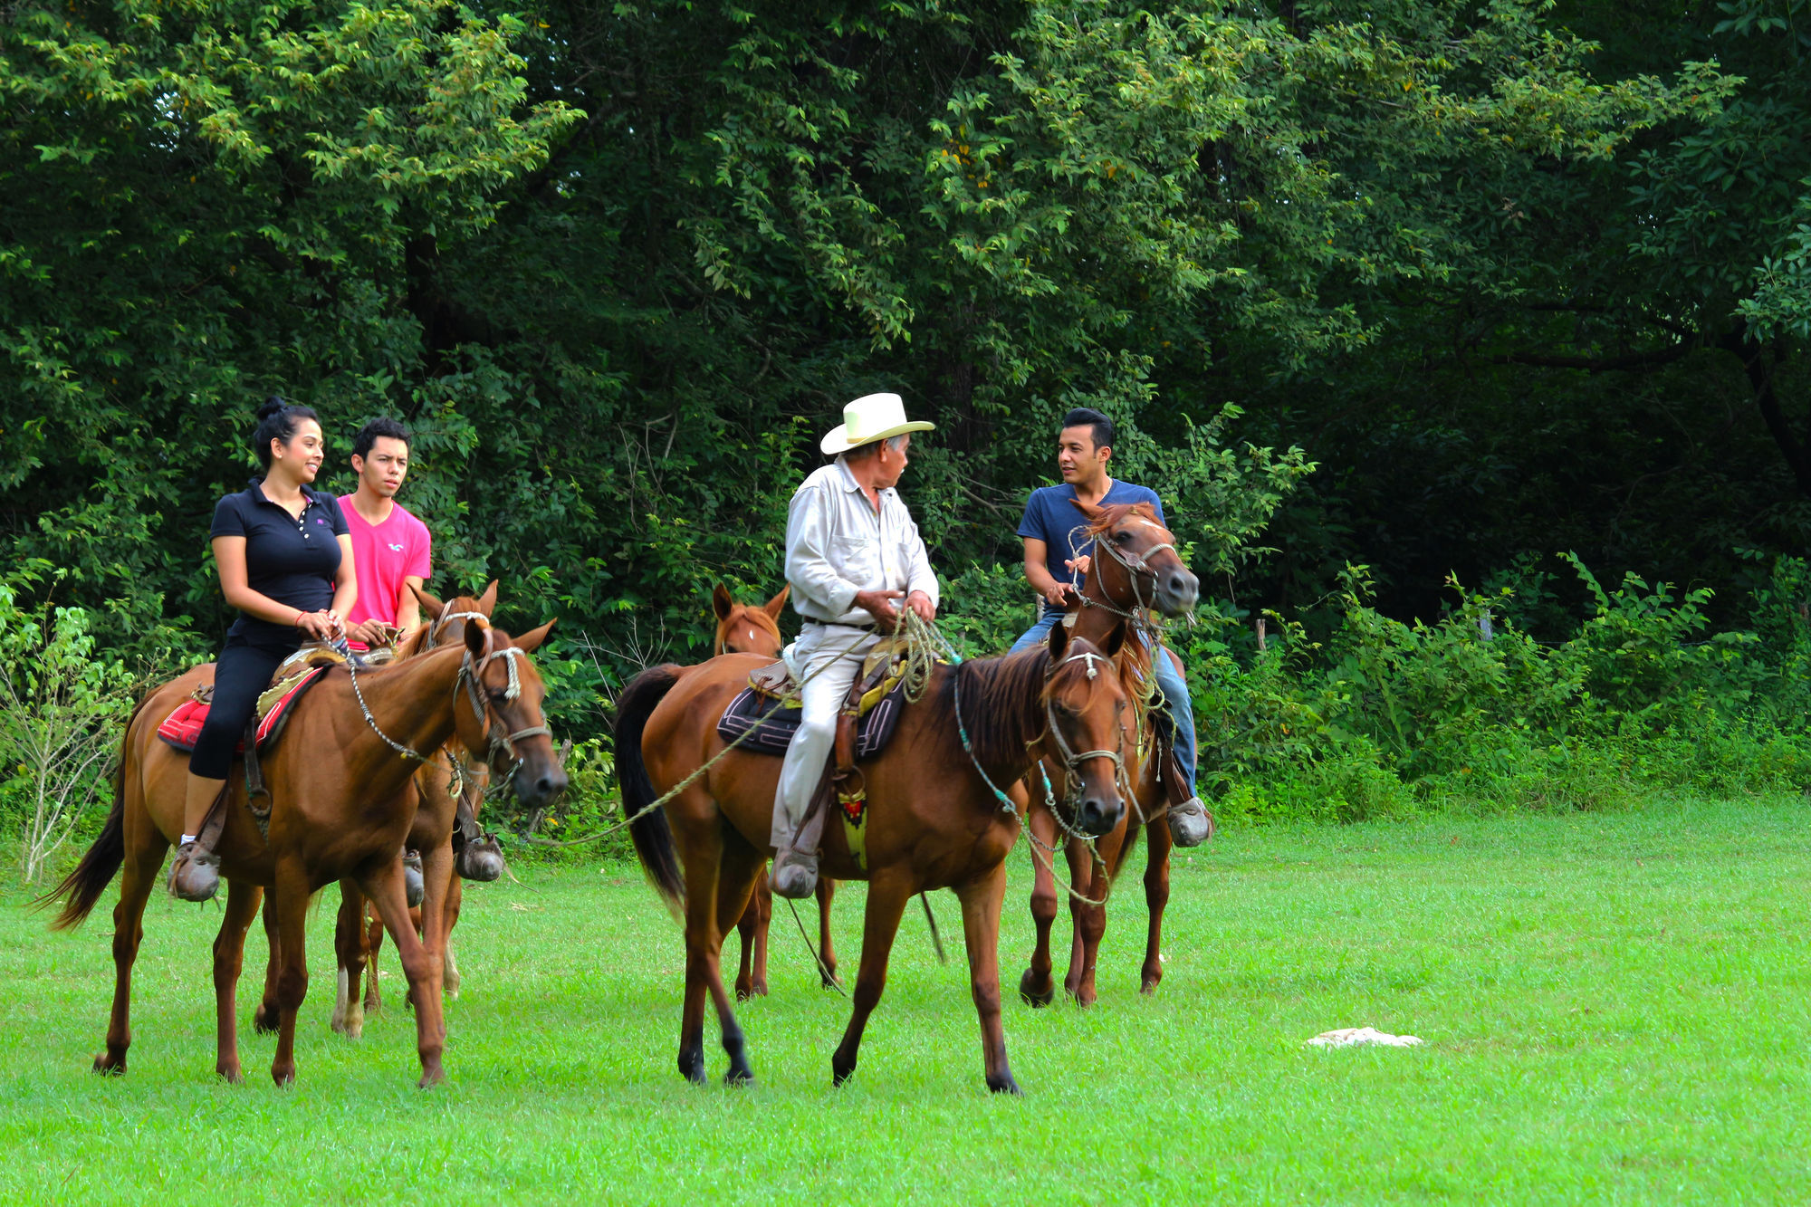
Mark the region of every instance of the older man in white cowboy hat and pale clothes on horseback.
POLYGON ((896 393, 869 393, 842 408, 842 426, 822 440, 831 464, 793 493, 786 509, 786 582, 804 631, 793 645, 793 674, 804 687, 804 716, 773 797, 773 892, 810 897, 817 852, 793 837, 824 776, 837 739, 837 712, 862 671, 862 658, 909 607, 936 618, 936 575, 918 526, 893 486, 906 471, 913 431, 934 424, 906 419, 896 393), (902 600, 902 604, 895 604, 902 600))

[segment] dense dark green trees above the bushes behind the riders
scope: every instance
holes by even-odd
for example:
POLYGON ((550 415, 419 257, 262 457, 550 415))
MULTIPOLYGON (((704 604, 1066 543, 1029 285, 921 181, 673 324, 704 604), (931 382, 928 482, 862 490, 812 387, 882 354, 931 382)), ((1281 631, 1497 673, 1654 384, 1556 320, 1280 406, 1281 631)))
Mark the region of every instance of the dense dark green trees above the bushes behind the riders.
POLYGON ((1807 31, 1804 0, 9 0, 0 538, 109 642, 212 642, 205 520, 279 390, 415 424, 453 580, 683 649, 712 580, 777 584, 837 406, 898 388, 940 424, 915 509, 978 584, 1083 402, 1246 605, 1351 560, 1433 616, 1449 571, 1559 549, 1722 585, 1811 518, 1807 31))

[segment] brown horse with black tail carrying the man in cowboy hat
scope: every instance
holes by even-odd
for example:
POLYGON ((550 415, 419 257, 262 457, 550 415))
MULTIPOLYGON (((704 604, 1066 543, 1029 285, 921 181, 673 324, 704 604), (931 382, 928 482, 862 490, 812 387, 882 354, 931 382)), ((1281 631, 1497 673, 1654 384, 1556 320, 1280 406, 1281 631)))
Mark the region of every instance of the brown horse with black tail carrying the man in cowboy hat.
MULTIPOLYGON (((1001 808, 1003 796, 992 785, 1020 779, 1047 743, 1061 739, 1079 752, 1068 768, 1083 785, 1070 825, 1105 834, 1119 823, 1125 805, 1116 745, 1126 700, 1119 678, 1099 669, 1110 656, 1112 651, 1088 642, 1070 642, 1059 627, 1043 649, 936 667, 925 696, 904 710, 887 748, 862 765, 866 864, 849 854, 835 817, 822 841, 826 874, 869 881, 855 1013, 831 1058, 837 1084, 855 1073, 862 1029, 880 1002, 906 903, 947 886, 962 901, 987 1086, 1018 1093, 1000 1024, 998 948, 1005 857, 1018 839, 1020 819, 1001 808)), ((679 1073, 692 1082, 706 1080, 706 993, 717 1006, 730 1057, 726 1080, 753 1077, 717 957, 724 932, 741 917, 771 854, 768 835, 781 759, 726 748, 717 718, 757 665, 757 658, 728 656, 701 667, 652 667, 623 689, 618 705, 616 758, 630 816, 704 768, 663 810, 647 812, 630 826, 654 886, 676 912, 683 904, 679 1073)))

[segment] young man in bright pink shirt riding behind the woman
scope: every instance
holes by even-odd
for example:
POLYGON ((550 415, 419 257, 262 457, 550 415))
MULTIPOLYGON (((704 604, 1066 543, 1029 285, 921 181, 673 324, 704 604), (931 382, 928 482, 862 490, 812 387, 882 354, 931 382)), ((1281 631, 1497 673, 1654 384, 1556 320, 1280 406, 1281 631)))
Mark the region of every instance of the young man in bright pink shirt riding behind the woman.
POLYGON ((366 649, 389 645, 393 631, 422 620, 409 585, 427 582, 433 540, 427 526, 397 502, 409 473, 409 431, 395 419, 373 419, 351 446, 359 489, 340 497, 351 531, 359 600, 346 616, 346 636, 366 649))

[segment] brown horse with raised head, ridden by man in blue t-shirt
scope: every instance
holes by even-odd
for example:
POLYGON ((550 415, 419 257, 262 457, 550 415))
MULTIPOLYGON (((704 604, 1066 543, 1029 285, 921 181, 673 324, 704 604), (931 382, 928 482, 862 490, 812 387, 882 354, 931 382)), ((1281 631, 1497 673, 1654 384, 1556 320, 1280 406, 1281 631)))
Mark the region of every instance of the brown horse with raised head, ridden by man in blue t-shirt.
MULTIPOLYGON (((1081 506, 1081 504, 1078 504, 1081 506)), ((1107 897, 1125 866, 1126 855, 1137 843, 1137 825, 1143 823, 1148 843, 1148 861, 1145 870, 1145 903, 1150 910, 1150 922, 1145 942, 1145 966, 1141 971, 1141 991, 1155 993, 1163 980, 1163 912, 1170 901, 1170 826, 1164 810, 1175 803, 1172 797, 1183 790, 1181 783, 1168 783, 1172 777, 1154 758, 1143 758, 1150 747, 1150 718, 1145 714, 1145 683, 1150 681, 1152 651, 1137 640, 1125 640, 1128 625, 1143 607, 1155 607, 1166 614, 1183 614, 1199 598, 1199 580, 1183 565, 1175 553, 1175 536, 1157 524, 1155 511, 1148 504, 1116 504, 1110 507, 1081 507, 1090 520, 1090 535, 1101 549, 1088 565, 1087 580, 1081 587, 1081 602, 1070 605, 1076 636, 1085 636, 1096 643, 1117 643, 1116 658, 1126 694, 1137 701, 1125 723, 1126 743, 1126 781, 1132 785, 1135 816, 1128 816, 1110 834, 1096 841, 1099 859, 1088 852, 1081 839, 1068 837, 1063 843, 1070 884, 1081 897, 1099 901, 1068 899, 1072 919, 1068 973, 1063 990, 1081 1006, 1096 1000, 1094 968, 1099 955, 1101 937, 1107 933, 1107 897)), ((1170 651, 1161 656, 1174 658, 1170 651)), ((1058 837, 1058 817, 1045 806, 1045 783, 1059 785, 1061 767, 1047 765, 1041 774, 1032 774, 1027 781, 1030 794, 1030 832, 1054 846, 1058 837)), ((1049 1006, 1056 997, 1050 980, 1050 926, 1058 912, 1058 888, 1052 870, 1041 861, 1034 861, 1034 886, 1030 913, 1036 922, 1036 944, 1030 966, 1020 977, 1020 995, 1032 1006, 1049 1006)))

